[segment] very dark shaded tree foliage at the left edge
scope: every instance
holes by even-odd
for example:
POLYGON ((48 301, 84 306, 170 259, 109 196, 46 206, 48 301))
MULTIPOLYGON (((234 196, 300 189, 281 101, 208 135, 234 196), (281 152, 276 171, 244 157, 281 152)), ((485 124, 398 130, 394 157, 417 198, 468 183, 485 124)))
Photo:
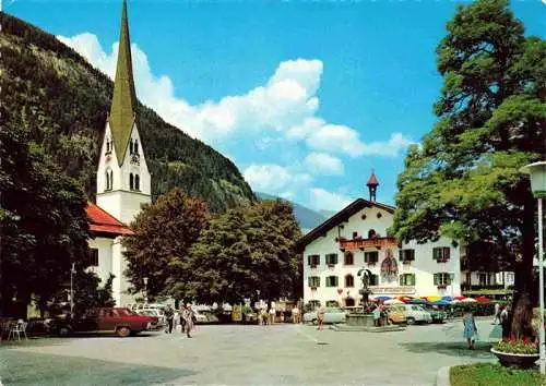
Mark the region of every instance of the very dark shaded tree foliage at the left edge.
POLYGON ((14 312, 12 299, 44 309, 69 280, 71 263, 88 255, 86 200, 32 141, 33 125, 20 111, 1 109, 15 124, 0 130, 1 312, 14 312))

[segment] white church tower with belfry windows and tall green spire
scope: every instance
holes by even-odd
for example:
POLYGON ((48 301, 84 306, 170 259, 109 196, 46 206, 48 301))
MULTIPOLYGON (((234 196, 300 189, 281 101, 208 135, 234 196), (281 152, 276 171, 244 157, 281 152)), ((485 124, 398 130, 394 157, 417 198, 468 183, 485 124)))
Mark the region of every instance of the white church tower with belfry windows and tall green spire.
POLYGON ((141 205, 151 203, 151 176, 136 129, 131 40, 123 0, 118 63, 110 113, 97 169, 97 205, 129 225, 141 205))

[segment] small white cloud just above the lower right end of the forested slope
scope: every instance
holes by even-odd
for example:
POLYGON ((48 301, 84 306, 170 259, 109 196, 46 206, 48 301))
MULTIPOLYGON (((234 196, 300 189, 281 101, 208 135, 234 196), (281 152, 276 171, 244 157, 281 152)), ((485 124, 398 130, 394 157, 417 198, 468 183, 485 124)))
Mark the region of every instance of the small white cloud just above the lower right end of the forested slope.
POLYGON ((307 173, 292 172, 275 164, 251 165, 245 169, 242 176, 253 191, 285 198, 294 195, 293 189, 305 186, 312 180, 307 173))

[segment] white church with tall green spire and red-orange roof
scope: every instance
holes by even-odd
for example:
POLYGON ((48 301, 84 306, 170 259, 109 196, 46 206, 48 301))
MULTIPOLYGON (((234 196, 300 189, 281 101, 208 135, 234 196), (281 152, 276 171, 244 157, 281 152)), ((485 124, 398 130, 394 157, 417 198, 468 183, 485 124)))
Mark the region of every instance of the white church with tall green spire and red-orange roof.
POLYGON ((131 40, 127 1, 123 0, 118 61, 114 96, 100 147, 97 167, 96 204, 87 203, 92 232, 90 269, 104 282, 115 275, 112 297, 116 305, 133 302, 121 238, 132 234, 129 224, 152 202, 151 174, 136 128, 136 93, 134 89, 131 40))

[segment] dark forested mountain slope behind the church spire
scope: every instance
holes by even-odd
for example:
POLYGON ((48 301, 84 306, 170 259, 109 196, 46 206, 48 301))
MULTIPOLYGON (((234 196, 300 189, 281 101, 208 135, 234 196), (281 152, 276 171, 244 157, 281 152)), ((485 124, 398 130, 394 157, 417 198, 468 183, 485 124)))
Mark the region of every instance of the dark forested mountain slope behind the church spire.
MULTIPOLYGON (((99 144, 112 81, 55 36, 1 13, 4 124, 23 124, 88 197, 95 197, 99 144)), ((136 125, 152 173, 152 200, 173 188, 207 202, 214 213, 256 202, 237 167, 212 147, 138 104, 136 125)))

